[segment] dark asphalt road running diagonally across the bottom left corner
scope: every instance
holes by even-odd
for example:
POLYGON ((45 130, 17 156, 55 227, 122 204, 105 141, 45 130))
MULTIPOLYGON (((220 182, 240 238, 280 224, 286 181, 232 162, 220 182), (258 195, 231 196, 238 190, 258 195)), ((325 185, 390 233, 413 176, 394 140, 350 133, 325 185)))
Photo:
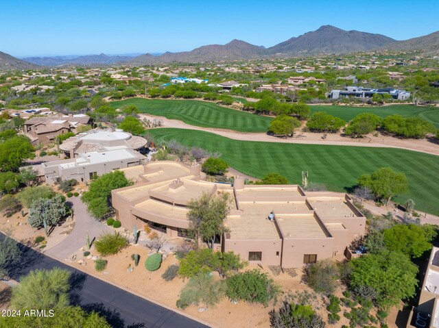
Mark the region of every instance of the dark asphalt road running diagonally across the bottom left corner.
MULTIPOLYGON (((4 237, 5 235, 0 234, 0 239, 4 237)), ((65 268, 72 273, 71 303, 81 305, 86 310, 95 310, 105 316, 112 327, 207 328, 197 321, 91 277, 29 247, 21 245, 21 248, 23 261, 21 267, 11 274, 12 279, 19 281, 20 277, 37 268, 65 268)))

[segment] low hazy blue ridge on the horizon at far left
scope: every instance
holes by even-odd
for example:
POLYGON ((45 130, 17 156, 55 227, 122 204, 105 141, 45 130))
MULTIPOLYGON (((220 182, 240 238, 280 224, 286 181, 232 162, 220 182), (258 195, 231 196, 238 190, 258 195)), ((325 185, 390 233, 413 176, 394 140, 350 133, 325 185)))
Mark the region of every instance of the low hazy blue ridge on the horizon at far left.
POLYGON ((72 65, 110 65, 117 62, 125 62, 132 57, 124 55, 106 55, 101 53, 100 55, 83 55, 76 58, 66 58, 62 56, 57 57, 29 57, 23 58, 28 62, 32 62, 38 65, 44 66, 72 66, 72 65))

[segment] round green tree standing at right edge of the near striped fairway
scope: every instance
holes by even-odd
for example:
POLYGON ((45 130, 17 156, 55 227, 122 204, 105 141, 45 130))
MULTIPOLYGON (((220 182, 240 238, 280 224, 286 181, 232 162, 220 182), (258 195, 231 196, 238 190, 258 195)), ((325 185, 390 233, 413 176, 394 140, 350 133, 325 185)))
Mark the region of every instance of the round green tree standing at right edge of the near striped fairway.
POLYGON ((358 184, 369 187, 377 198, 385 200, 385 205, 388 205, 396 194, 401 194, 408 188, 405 174, 395 172, 389 167, 379 168, 371 175, 361 175, 358 184))

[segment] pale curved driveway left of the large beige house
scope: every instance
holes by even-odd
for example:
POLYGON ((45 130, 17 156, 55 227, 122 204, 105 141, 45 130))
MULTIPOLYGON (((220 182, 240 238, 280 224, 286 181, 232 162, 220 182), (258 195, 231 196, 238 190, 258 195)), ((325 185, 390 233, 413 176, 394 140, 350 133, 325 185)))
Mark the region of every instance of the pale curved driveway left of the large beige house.
POLYGON ((88 214, 86 205, 82 203, 81 197, 71 197, 68 201, 73 203, 76 218, 75 227, 67 238, 45 251, 45 254, 55 257, 57 260, 64 260, 81 247, 84 247, 87 232, 90 234, 91 241, 93 238, 97 239, 103 232, 111 231, 111 228, 106 223, 99 222, 88 214))

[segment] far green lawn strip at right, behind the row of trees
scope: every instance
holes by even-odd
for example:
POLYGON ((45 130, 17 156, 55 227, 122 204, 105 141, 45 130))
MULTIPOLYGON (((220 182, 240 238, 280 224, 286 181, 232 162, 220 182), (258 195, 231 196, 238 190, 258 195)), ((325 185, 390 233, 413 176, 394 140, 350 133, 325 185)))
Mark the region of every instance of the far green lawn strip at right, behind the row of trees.
POLYGON ((311 113, 327 112, 333 116, 350 121, 361 113, 372 113, 380 117, 399 114, 402 116, 419 116, 439 127, 439 108, 416 107, 414 105, 390 105, 382 107, 351 107, 333 105, 314 105, 311 106, 311 113))

